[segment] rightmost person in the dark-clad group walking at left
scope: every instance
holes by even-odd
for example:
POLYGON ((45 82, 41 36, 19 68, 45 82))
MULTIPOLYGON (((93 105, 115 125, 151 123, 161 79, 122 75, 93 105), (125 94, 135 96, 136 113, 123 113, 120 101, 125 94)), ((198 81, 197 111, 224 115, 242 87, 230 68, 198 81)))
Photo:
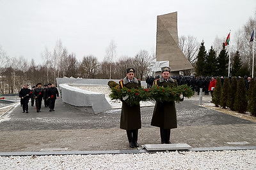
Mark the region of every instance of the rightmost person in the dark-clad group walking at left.
POLYGON ((59 98, 59 92, 55 85, 51 83, 49 83, 48 85, 49 88, 47 89, 47 96, 49 101, 49 111, 54 111, 55 101, 57 98, 59 98))

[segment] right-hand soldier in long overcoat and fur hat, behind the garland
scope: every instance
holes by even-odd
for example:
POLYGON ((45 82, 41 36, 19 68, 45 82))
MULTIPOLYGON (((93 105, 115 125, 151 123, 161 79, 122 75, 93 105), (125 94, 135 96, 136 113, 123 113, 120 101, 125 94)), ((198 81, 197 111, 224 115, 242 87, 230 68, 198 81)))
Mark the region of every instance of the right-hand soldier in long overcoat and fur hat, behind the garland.
MULTIPOLYGON (((170 77, 171 68, 162 67, 161 71, 162 76, 154 81, 154 85, 161 87, 177 87, 177 81, 170 77)), ((181 96, 180 98, 180 101, 182 101, 183 97, 181 96)), ((161 143, 169 144, 171 129, 177 128, 175 102, 156 101, 151 125, 160 127, 161 143)))

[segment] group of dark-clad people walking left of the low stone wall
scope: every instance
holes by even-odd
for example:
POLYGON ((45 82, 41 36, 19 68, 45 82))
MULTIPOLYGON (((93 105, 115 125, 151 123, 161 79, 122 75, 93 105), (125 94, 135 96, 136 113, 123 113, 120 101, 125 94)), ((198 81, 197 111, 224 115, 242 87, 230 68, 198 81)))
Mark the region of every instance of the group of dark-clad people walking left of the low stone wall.
POLYGON ((44 85, 44 88, 42 88, 42 83, 36 83, 31 89, 28 88, 28 84, 25 84, 19 92, 19 97, 22 113, 28 113, 29 99, 31 99, 31 106, 35 104, 36 112, 39 113, 43 99, 45 108, 49 108, 49 111, 55 111, 55 101, 59 97, 59 92, 52 83, 44 85))

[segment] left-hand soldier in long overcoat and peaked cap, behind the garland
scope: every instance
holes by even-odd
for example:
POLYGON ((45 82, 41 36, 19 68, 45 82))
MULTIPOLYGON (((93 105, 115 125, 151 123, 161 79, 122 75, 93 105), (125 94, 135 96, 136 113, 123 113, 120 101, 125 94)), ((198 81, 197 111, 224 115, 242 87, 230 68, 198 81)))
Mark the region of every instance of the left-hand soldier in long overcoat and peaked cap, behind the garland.
MULTIPOLYGON (((138 89, 141 87, 141 81, 134 77, 134 68, 126 69, 126 76, 124 79, 119 81, 120 88, 138 89)), ((120 128, 125 129, 129 146, 131 148, 138 147, 138 129, 141 129, 141 114, 140 114, 140 103, 130 106, 125 103, 125 98, 122 101, 122 111, 120 118, 120 128)))

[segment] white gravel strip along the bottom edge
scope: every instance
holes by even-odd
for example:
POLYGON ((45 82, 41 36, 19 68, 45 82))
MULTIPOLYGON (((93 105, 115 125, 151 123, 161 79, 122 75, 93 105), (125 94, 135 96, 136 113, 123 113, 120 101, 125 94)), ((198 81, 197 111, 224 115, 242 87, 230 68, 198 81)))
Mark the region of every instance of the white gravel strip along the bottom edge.
POLYGON ((0 169, 255 169, 255 160, 256 150, 50 155, 0 157, 0 169))

